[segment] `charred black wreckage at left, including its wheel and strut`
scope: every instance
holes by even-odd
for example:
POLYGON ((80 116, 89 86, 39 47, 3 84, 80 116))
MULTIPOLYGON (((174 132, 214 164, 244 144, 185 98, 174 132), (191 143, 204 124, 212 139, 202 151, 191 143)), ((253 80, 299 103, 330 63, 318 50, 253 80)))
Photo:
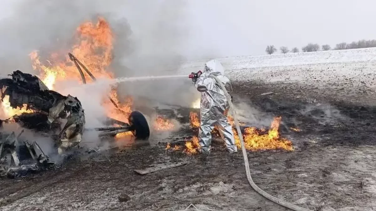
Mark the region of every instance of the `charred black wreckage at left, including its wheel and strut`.
MULTIPOLYGON (((79 99, 64 96, 47 86, 36 76, 14 71, 12 78, 0 79, 1 99, 9 98, 12 108, 22 108, 31 112, 14 115, 0 120, 0 126, 15 122, 22 128, 50 137, 58 154, 78 147, 82 141, 85 126, 85 114, 79 99)), ((132 131, 136 139, 147 140, 150 130, 142 113, 133 111, 129 124, 108 119, 107 125, 120 127, 93 128, 103 131, 99 137, 113 137, 118 133, 132 131)), ((0 176, 15 177, 27 172, 47 169, 54 162, 42 151, 37 142, 21 140, 22 130, 15 132, 0 131, 0 176)))

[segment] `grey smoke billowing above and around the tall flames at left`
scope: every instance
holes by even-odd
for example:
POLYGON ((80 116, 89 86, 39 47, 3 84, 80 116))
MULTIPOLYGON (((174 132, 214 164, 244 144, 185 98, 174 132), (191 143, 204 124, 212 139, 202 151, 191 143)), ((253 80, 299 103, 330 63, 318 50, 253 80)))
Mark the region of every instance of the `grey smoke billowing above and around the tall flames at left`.
MULTIPOLYGON (((84 21, 96 21, 98 15, 109 21, 115 35, 110 68, 115 76, 176 74, 183 60, 202 55, 198 46, 192 45, 197 21, 192 18, 192 4, 182 0, 8 2, 7 8, 12 12, 0 21, 1 74, 15 69, 33 73, 28 56, 33 50, 42 55, 52 52, 66 55, 76 27, 84 21), (198 51, 188 50, 190 46, 198 51)), ((118 90, 120 97, 133 95, 187 106, 196 94, 191 86, 187 77, 122 83, 118 90)))

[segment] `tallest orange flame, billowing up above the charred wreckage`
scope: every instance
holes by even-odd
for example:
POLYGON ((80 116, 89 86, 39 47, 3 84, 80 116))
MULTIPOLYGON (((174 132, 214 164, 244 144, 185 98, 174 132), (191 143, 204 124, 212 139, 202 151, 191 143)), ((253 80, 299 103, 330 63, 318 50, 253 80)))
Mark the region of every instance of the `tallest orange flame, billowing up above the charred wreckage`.
MULTIPOLYGON (((108 22, 99 17, 97 24, 86 22, 77 27, 76 43, 70 49, 70 52, 96 78, 114 78, 114 74, 108 71, 112 61, 113 42, 114 36, 108 22)), ((79 71, 77 71, 76 66, 71 62, 68 55, 62 56, 58 53, 52 53, 49 60, 46 60, 49 63, 48 66, 40 62, 38 51, 33 51, 29 56, 33 62, 33 68, 39 71, 41 80, 46 83, 47 87, 50 86, 51 89, 58 81, 77 80, 77 78, 81 80, 79 71)), ((84 74, 88 82, 92 81, 86 73, 84 74)))

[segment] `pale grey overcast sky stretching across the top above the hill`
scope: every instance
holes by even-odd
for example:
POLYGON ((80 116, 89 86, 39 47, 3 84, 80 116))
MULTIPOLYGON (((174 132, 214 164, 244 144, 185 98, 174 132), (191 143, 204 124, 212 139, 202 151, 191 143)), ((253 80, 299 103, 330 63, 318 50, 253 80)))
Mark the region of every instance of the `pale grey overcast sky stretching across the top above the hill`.
POLYGON ((186 58, 260 55, 270 44, 301 49, 308 42, 334 47, 376 39, 375 0, 2 0, 0 8, 0 26, 7 26, 0 28, 0 44, 19 41, 18 48, 27 48, 26 42, 33 48, 47 45, 30 36, 47 36, 64 22, 77 25, 93 13, 125 17, 142 52, 159 53, 153 49, 168 45, 186 58), (50 2, 52 9, 46 6, 50 2), (4 36, 13 29, 17 35, 4 36))

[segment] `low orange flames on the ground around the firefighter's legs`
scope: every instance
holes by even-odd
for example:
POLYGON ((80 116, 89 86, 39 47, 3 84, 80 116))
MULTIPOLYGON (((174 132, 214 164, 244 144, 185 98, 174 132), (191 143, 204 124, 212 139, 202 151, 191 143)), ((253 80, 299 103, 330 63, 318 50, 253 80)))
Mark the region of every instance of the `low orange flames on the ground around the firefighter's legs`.
MULTIPOLYGON (((228 121, 232 126, 234 126, 234 120, 229 116, 228 121)), ((281 138, 279 136, 279 125, 281 122, 281 117, 276 117, 273 119, 270 125, 270 129, 267 131, 265 129, 257 129, 255 127, 247 127, 244 129, 243 140, 244 145, 247 150, 258 151, 258 150, 271 150, 271 149, 283 149, 286 151, 293 150, 293 144, 290 140, 281 138)), ((193 128, 198 128, 200 126, 200 119, 197 113, 190 113, 191 126, 193 128)), ((240 123, 244 126, 244 123, 240 123)), ((217 133, 217 131, 212 133, 217 133)), ((240 138, 238 136, 237 130, 233 127, 233 133, 235 136, 235 144, 238 148, 241 148, 240 138)), ((184 152, 187 154, 197 153, 197 149, 200 148, 199 139, 194 136, 190 141, 186 141, 184 152)), ((170 149, 170 148, 166 148, 170 149)))

